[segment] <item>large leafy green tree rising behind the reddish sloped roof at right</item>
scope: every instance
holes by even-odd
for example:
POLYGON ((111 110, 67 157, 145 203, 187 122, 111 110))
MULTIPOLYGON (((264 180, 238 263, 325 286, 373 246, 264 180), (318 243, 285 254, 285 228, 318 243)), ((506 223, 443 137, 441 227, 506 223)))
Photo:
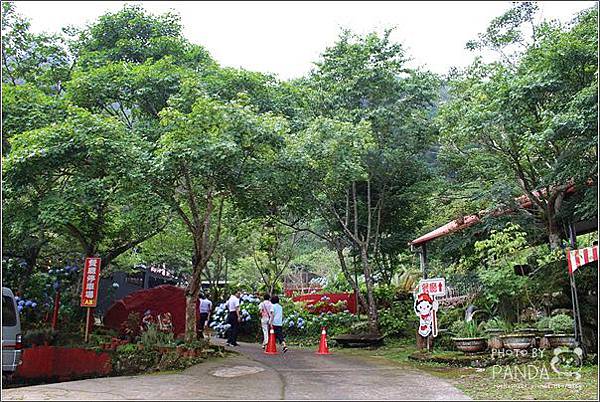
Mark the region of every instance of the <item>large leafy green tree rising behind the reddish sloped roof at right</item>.
MULTIPOLYGON (((533 12, 523 4, 493 22, 484 45, 522 43, 518 29, 533 12)), ((553 248, 561 220, 572 219, 563 216, 569 188, 595 192, 588 181, 597 182, 596 23, 591 9, 569 27, 534 26, 532 42, 510 62, 477 62, 455 77, 440 115, 447 160, 462 163, 474 180, 507 182, 509 200, 525 194, 553 248)), ((579 215, 593 215, 594 204, 579 215)))

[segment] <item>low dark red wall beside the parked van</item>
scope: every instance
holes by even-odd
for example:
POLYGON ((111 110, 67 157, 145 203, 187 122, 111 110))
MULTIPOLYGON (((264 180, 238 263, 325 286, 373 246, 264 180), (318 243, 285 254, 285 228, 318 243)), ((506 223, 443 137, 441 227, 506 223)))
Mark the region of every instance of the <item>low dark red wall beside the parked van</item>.
POLYGON ((23 349, 23 364, 15 376, 30 379, 58 378, 70 380, 111 372, 108 353, 96 353, 83 348, 34 346, 23 349))

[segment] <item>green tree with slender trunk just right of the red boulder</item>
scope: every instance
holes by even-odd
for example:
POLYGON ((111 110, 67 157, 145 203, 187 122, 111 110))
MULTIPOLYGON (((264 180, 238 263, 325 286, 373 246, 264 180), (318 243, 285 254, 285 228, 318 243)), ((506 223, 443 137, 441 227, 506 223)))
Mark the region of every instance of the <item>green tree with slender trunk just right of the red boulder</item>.
POLYGON ((206 97, 196 98, 187 113, 173 107, 160 116, 165 132, 155 152, 155 191, 176 211, 193 241, 185 292, 186 339, 192 340, 202 273, 219 242, 224 203, 256 191, 252 187, 259 183, 251 176, 274 156, 286 125, 249 107, 206 97))

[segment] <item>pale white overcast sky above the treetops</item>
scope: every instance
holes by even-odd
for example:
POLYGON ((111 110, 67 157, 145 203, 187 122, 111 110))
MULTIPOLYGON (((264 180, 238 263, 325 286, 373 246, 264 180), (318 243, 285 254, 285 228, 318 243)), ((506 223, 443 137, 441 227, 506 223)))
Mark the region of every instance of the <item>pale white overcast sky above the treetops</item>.
MULTIPOLYGON (((510 8, 508 1, 480 2, 210 2, 210 1, 17 1, 36 32, 84 25, 125 3, 141 3, 153 13, 180 13, 185 36, 204 46, 222 65, 302 76, 340 27, 358 33, 395 26, 393 39, 413 59, 411 65, 443 74, 465 66, 473 53, 464 46, 510 8)), ((569 21, 593 1, 543 1, 540 17, 569 21)))

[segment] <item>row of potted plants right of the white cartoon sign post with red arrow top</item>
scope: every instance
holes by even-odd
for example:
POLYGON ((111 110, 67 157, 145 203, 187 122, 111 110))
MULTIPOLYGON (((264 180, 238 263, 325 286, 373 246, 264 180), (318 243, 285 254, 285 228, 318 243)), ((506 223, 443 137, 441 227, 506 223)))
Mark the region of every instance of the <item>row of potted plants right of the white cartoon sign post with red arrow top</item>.
POLYGON ((555 348, 575 345, 573 319, 566 314, 543 317, 534 325, 511 324, 495 317, 477 324, 474 320, 456 321, 450 332, 456 348, 465 353, 493 349, 555 348))

